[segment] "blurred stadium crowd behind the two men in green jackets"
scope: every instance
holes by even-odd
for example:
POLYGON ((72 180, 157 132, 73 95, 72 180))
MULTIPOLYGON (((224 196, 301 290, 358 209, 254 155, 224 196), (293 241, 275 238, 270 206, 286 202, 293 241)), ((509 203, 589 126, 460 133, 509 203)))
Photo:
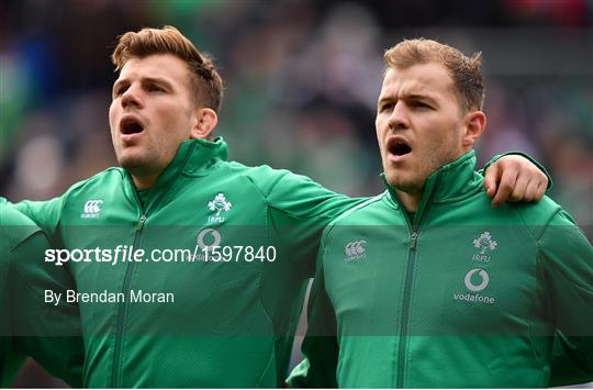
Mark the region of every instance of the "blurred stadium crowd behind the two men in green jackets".
MULTIPOLYGON (((0 12, 0 193, 48 199, 114 165, 115 36, 172 24, 225 80, 231 158, 382 191, 374 136, 382 52, 404 37, 482 51, 480 164, 532 154, 593 239, 593 1, 10 0, 0 12)), ((295 356, 296 358, 296 356, 295 356)), ((60 386, 29 361, 19 387, 60 386)))

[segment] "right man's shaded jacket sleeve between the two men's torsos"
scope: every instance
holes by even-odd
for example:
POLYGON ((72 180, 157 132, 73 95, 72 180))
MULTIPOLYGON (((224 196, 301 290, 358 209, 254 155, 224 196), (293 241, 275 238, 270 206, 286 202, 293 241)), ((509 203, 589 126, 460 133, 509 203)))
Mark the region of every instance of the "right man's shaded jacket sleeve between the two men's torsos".
POLYGON ((309 299, 309 325, 301 346, 303 360, 287 379, 293 388, 337 388, 337 322, 325 290, 321 253, 309 299))

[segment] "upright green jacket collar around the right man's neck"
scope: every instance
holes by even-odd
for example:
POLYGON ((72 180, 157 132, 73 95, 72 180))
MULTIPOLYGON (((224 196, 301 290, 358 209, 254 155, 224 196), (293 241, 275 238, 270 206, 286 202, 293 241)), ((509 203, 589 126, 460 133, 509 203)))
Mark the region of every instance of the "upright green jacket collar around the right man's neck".
MULTIPOLYGON (((472 194, 481 189, 482 176, 475 172, 475 152, 470 151, 434 171, 426 179, 419 209, 426 203, 451 201, 472 194)), ((395 189, 388 185, 385 175, 381 174, 383 183, 388 188, 391 200, 400 205, 395 189)))

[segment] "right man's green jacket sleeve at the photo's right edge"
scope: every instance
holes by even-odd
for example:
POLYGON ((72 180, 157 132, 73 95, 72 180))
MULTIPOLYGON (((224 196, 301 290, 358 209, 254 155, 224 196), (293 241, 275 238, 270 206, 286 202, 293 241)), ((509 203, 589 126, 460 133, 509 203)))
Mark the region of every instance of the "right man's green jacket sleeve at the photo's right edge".
POLYGON ((593 247, 563 210, 538 243, 540 278, 556 327, 550 386, 593 381, 593 247))

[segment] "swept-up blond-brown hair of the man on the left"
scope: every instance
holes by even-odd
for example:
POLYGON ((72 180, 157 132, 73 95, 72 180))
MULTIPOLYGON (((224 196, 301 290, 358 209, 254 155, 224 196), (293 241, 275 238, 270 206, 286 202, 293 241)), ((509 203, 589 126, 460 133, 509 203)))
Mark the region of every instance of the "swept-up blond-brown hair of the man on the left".
POLYGON ((195 103, 216 112, 221 110, 223 81, 212 58, 206 53, 200 52, 174 26, 142 29, 119 36, 111 60, 115 65, 115 70, 121 70, 130 58, 144 58, 153 54, 171 54, 182 59, 190 70, 195 103))

